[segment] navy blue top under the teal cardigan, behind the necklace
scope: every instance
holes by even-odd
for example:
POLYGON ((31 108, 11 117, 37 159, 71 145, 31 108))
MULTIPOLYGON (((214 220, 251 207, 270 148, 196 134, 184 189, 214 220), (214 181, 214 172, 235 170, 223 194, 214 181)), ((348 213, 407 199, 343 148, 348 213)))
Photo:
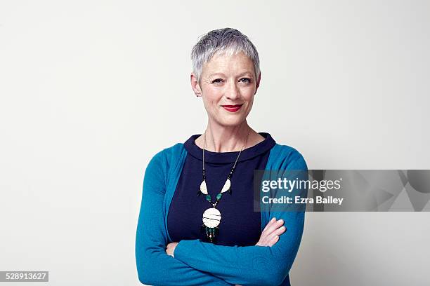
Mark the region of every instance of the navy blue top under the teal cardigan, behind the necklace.
MULTIPOLYGON (((270 134, 259 134, 265 139, 242 151, 230 179, 232 193, 223 193, 216 205, 221 212, 217 245, 248 246, 259 241, 261 214, 254 212, 254 170, 266 168, 270 150, 275 146, 275 140, 270 134)), ((167 216, 169 235, 176 243, 194 239, 208 241, 201 226, 203 212, 211 207, 211 204, 203 194, 197 196, 202 183, 202 149, 195 144, 195 139, 199 136, 193 135, 184 143, 188 154, 167 216)), ((238 151, 204 151, 207 190, 213 202, 226 182, 238 154, 238 151)))

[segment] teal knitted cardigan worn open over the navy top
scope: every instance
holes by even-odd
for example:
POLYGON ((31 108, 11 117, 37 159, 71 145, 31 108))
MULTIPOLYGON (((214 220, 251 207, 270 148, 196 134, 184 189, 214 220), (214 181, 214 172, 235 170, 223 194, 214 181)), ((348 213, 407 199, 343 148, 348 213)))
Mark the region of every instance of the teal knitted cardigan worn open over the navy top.
MULTIPOLYGON (((272 247, 224 246, 201 240, 181 240, 174 257, 167 214, 187 151, 183 144, 164 149, 148 164, 143 179, 136 231, 136 266, 145 285, 289 285, 289 270, 301 241, 304 212, 261 212, 261 231, 272 217, 283 219, 287 231, 272 247)), ((308 170, 296 149, 275 144, 266 170, 308 170)))

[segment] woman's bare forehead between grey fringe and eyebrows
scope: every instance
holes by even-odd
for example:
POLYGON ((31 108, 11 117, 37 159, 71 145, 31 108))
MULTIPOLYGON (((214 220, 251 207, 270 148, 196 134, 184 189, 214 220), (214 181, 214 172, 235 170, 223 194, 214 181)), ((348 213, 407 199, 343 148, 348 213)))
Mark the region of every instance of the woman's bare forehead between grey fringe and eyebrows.
POLYGON ((209 62, 203 64, 202 73, 209 73, 213 71, 254 71, 254 63, 252 60, 240 52, 233 55, 227 53, 217 53, 209 62))

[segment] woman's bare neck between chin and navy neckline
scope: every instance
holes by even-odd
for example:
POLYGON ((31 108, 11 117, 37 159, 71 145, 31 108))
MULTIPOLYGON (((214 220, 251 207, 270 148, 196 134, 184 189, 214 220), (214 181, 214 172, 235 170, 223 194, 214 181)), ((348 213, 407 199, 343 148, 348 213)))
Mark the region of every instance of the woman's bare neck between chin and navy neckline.
MULTIPOLYGON (((253 130, 247 121, 236 126, 220 126, 209 121, 206 128, 206 142, 204 149, 212 152, 233 152, 240 151, 244 147, 245 142, 249 145, 250 137, 253 130), (247 141, 247 135, 249 137, 247 141)), ((255 131, 254 131, 255 132, 255 131)), ((202 138, 202 142, 204 137, 202 138)), ((244 149, 247 147, 245 146, 244 149)))

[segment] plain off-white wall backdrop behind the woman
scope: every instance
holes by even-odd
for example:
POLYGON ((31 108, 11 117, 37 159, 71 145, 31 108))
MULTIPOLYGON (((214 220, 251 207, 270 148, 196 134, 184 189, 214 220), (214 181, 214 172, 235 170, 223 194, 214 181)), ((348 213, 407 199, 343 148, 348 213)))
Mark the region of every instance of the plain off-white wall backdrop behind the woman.
MULTIPOLYGON (((310 169, 430 169, 429 19, 429 1, 1 1, 0 271, 140 284, 143 172, 204 130, 190 50, 211 29, 254 42, 249 122, 310 169)), ((307 213, 292 285, 430 285, 429 219, 307 213)))

